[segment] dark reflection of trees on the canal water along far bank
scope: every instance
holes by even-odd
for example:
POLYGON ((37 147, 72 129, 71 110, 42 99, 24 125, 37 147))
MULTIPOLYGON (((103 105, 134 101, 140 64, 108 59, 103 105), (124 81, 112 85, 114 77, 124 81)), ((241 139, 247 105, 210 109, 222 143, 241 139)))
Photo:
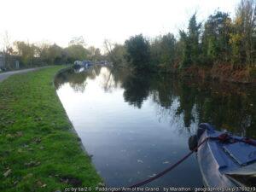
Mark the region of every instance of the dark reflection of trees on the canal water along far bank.
POLYGON ((124 100, 136 108, 152 99, 160 119, 183 117, 183 125, 209 122, 236 134, 256 137, 256 89, 253 85, 201 82, 196 79, 177 79, 170 74, 137 74, 125 68, 92 67, 74 73, 72 69, 55 79, 56 88, 69 83, 73 90, 84 92, 86 81, 101 77, 102 89, 112 92, 124 89, 124 100), (174 107, 177 103, 177 108, 174 107))

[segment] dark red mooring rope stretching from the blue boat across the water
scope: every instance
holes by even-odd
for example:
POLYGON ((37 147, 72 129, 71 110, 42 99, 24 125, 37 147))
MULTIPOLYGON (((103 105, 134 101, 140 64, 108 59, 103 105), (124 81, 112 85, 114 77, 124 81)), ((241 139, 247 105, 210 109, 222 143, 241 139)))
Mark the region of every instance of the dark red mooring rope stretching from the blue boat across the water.
POLYGON ((146 183, 150 183, 152 181, 154 181, 155 179, 162 177, 163 175, 165 175, 167 172, 172 171, 172 169, 174 169, 176 166, 178 166, 179 164, 181 164, 184 160, 188 159, 188 157, 193 154, 203 143, 205 143, 207 141, 208 137, 206 137, 201 143, 199 143, 197 145, 197 147, 195 147, 193 150, 191 150, 189 152, 189 154, 186 154, 185 156, 183 156, 183 158, 181 160, 178 160, 176 163, 172 164, 172 166, 168 167, 166 170, 164 170, 163 172, 160 172, 158 174, 156 174, 154 177, 148 178, 146 180, 143 180, 139 183, 135 183, 131 186, 129 186, 128 188, 136 188, 136 187, 140 187, 143 186, 146 183))

